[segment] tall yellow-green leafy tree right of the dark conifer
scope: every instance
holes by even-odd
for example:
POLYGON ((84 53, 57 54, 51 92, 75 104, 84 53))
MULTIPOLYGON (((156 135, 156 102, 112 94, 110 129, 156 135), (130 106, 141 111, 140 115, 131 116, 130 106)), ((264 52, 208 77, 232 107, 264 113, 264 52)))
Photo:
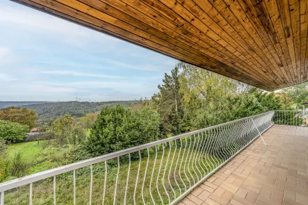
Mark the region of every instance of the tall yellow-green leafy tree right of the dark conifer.
POLYGON ((229 120, 229 99, 247 88, 225 76, 200 69, 188 63, 179 63, 181 69, 180 93, 186 123, 191 129, 220 124, 229 120))

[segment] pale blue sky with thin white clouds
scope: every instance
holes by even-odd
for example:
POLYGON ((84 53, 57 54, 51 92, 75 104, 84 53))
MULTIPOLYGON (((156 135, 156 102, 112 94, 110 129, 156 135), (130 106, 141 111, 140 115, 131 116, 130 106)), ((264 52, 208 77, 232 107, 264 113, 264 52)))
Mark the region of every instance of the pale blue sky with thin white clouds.
POLYGON ((158 92, 177 60, 0 1, 0 101, 107 101, 158 92))

